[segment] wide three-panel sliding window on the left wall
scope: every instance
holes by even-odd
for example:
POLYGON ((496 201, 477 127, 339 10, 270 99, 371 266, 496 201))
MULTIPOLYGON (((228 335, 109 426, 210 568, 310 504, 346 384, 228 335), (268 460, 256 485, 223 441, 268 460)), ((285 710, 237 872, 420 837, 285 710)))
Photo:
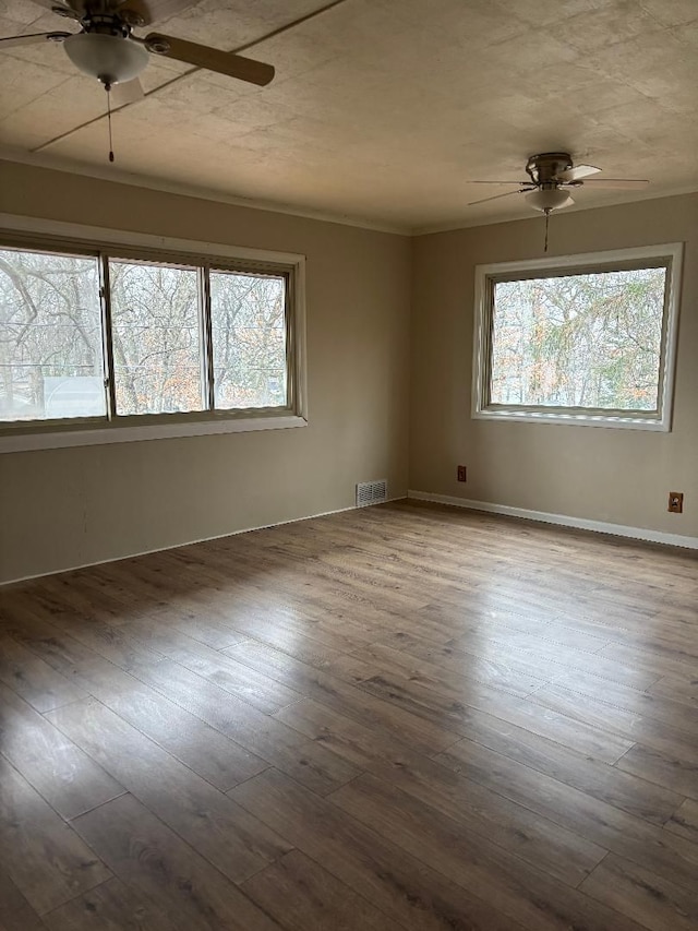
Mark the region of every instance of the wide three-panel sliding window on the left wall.
POLYGON ((0 244, 0 444, 302 416, 299 261, 25 240, 0 244))

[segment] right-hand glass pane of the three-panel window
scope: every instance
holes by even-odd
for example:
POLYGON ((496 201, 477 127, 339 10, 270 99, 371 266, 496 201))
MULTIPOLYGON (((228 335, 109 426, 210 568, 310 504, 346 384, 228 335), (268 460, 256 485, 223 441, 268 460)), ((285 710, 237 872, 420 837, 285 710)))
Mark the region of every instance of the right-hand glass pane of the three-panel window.
POLYGON ((210 273, 216 407, 285 407, 286 281, 210 273))

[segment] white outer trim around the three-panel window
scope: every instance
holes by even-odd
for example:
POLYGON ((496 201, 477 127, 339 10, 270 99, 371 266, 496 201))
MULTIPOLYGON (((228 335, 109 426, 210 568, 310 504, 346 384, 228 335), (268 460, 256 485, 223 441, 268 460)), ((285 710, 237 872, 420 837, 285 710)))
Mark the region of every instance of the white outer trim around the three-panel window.
MULTIPOLYGON (((305 341, 305 256, 296 252, 278 252, 266 249, 228 246, 221 242, 205 242, 195 239, 176 239, 144 232, 119 231, 99 226, 63 223, 35 217, 0 213, 0 230, 7 235, 22 234, 37 237, 56 237, 70 241, 82 241, 85 246, 116 246, 123 249, 147 249, 168 253, 201 255, 205 259, 248 260, 288 265, 293 273, 293 383, 296 385, 294 409, 268 411, 255 416, 251 411, 237 415, 220 414, 212 418, 206 411, 202 419, 195 417, 172 422, 128 425, 112 422, 83 425, 80 428, 55 427, 47 421, 37 423, 37 429, 27 429, 16 434, 0 437, 0 454, 29 450, 56 450, 68 446, 92 446, 104 443, 129 443, 137 440, 161 440, 173 437, 202 437, 216 433, 241 433, 256 430, 285 430, 308 426, 308 366, 305 341)), ((26 425, 29 428, 31 425, 26 425)))

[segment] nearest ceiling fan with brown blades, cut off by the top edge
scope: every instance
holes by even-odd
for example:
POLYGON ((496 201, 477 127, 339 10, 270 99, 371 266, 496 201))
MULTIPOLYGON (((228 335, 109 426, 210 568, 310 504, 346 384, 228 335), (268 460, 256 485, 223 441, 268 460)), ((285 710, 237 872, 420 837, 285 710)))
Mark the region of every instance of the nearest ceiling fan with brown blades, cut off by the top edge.
POLYGON ((34 0, 40 7, 80 23, 76 33, 55 31, 0 38, 0 50, 15 46, 58 41, 73 64, 100 81, 107 91, 120 86, 118 103, 132 103, 143 96, 139 75, 151 55, 183 61, 240 81, 265 85, 274 77, 274 68, 251 58, 221 51, 198 43, 148 33, 133 34, 157 19, 191 5, 191 0, 34 0))

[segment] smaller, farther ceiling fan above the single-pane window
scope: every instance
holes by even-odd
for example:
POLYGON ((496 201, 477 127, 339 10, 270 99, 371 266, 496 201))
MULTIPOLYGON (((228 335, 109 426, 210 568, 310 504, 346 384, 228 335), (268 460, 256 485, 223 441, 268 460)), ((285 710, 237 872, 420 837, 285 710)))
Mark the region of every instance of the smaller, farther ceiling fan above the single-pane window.
POLYGON ((526 194, 529 206, 547 215, 575 203, 568 193, 573 188, 589 184, 593 188, 640 190, 649 184, 647 180, 631 178, 591 178, 599 171, 601 168, 594 168, 593 165, 575 165, 568 152, 542 152, 540 155, 531 155, 526 163, 527 181, 469 181, 470 184, 515 184, 517 190, 471 201, 468 206, 508 198, 510 194, 526 194))

